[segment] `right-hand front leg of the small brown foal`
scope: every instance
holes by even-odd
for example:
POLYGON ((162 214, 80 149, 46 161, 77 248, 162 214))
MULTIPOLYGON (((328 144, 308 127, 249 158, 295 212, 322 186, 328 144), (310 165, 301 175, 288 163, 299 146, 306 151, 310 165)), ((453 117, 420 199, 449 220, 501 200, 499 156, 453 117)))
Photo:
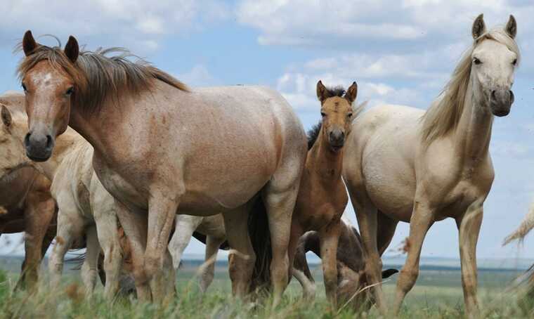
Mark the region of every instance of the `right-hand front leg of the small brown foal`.
POLYGON ((320 232, 321 263, 325 279, 326 297, 337 307, 337 244, 341 233, 340 221, 336 221, 320 232))

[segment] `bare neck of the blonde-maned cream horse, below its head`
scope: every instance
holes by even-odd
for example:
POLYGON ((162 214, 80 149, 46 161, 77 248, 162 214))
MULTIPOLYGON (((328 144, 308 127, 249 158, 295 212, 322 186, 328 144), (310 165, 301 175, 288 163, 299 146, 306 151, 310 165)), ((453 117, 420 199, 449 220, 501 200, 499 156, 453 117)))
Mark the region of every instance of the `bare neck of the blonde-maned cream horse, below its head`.
POLYGON ((467 86, 464 110, 455 134, 455 148, 460 156, 481 159, 488 154, 493 115, 488 105, 476 101, 471 82, 467 86))

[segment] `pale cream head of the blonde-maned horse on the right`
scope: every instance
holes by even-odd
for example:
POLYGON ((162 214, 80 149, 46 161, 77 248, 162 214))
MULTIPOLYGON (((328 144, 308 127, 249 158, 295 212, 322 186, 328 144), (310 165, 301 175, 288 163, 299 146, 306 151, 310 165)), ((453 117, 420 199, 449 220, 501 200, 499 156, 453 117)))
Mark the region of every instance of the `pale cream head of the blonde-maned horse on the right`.
POLYGON ((472 27, 471 86, 477 102, 498 117, 508 115, 514 103, 512 84, 519 61, 516 33, 513 15, 504 30, 486 31, 483 15, 478 15, 472 27))

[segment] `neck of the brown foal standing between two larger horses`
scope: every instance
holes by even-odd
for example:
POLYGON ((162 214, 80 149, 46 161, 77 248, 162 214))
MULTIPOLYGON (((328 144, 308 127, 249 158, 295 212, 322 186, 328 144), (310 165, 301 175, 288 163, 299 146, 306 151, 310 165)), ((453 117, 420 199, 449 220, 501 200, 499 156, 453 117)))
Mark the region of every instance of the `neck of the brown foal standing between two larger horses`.
POLYGON ((323 129, 321 129, 317 141, 308 152, 306 168, 311 174, 319 176, 323 183, 337 183, 341 180, 343 163, 343 148, 338 152, 332 152, 328 143, 325 142, 323 129))

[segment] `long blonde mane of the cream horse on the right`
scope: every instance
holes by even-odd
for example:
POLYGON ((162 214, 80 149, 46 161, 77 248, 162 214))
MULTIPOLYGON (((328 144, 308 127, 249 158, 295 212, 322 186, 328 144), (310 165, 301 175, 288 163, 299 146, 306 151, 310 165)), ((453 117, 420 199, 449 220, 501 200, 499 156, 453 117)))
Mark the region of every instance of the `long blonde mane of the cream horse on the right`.
POLYGON ((509 37, 504 30, 493 29, 475 39, 471 48, 464 53, 460 63, 452 72, 452 77, 443 88, 443 91, 422 117, 422 139, 424 145, 428 146, 436 138, 445 136, 456 129, 464 110, 467 86, 469 86, 471 77, 471 54, 477 44, 485 39, 495 40, 507 46, 510 51, 516 53, 519 63, 519 47, 516 41, 509 37))

